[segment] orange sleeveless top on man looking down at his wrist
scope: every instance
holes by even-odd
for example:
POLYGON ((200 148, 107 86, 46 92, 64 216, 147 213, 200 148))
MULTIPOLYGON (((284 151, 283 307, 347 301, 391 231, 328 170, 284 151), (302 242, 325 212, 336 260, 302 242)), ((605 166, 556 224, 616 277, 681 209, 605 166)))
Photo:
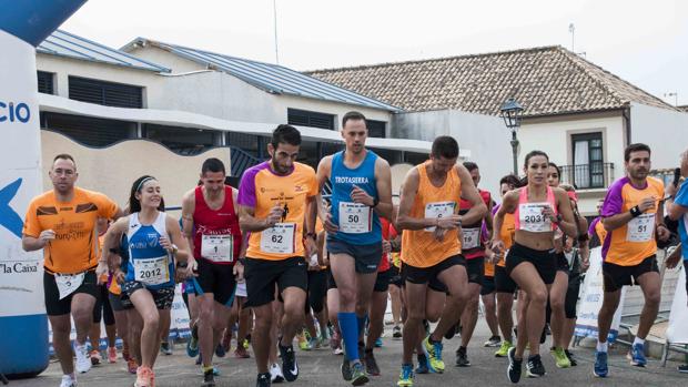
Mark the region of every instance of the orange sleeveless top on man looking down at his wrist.
MULTIPOLYGON (((436 187, 427 176, 429 161, 417 165, 418 191, 409 216, 415 218, 439 217, 458 213, 461 177, 456 169, 447 173, 442 187, 436 187)), ((447 231, 442 242, 435 240, 435 227, 404 230, 402 233, 402 261, 414 267, 431 267, 442 261, 461 254, 458 230, 447 231)))

